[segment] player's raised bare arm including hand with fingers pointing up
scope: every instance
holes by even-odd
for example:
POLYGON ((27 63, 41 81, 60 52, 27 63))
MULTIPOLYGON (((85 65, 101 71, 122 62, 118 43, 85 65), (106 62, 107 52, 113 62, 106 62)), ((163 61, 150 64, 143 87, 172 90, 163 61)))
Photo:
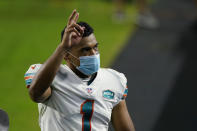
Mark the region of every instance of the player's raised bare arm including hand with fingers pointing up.
MULTIPOLYGON (((34 76, 29 88, 29 95, 34 102, 44 102, 49 98, 51 95, 50 85, 62 63, 66 50, 72 47, 72 36, 77 35, 81 37, 83 35, 84 29, 76 24, 78 16, 79 14, 74 10, 67 23, 62 42, 34 76), (76 28, 79 29, 80 32, 78 32, 76 28)), ((77 43, 79 43, 80 40, 81 39, 78 39, 77 43)))

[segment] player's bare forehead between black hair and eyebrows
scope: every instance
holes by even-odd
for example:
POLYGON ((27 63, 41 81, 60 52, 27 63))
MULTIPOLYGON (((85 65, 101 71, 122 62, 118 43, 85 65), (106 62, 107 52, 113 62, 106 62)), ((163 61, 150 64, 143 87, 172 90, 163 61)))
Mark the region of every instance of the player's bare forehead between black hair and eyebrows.
POLYGON ((77 45, 76 48, 83 48, 83 47, 87 47, 87 46, 94 46, 95 44, 97 44, 97 40, 94 34, 91 34, 87 37, 83 37, 81 39, 81 42, 77 45))

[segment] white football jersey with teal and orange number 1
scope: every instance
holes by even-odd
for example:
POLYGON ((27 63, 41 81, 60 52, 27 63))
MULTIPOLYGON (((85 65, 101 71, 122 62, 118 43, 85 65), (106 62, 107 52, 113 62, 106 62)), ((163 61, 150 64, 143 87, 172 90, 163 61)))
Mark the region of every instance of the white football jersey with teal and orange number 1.
MULTIPOLYGON (((25 74, 29 87, 41 64, 30 66, 25 74)), ((128 92, 122 73, 100 68, 87 85, 66 65, 61 65, 48 100, 38 103, 42 131, 107 131, 112 109, 128 92)))

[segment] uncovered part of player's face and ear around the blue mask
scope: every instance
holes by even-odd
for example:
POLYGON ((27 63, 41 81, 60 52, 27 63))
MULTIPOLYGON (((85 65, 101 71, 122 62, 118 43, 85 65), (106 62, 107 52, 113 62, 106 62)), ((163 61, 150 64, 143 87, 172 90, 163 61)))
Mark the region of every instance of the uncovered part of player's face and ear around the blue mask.
MULTIPOLYGON (((91 56, 99 53, 98 42, 94 34, 82 38, 78 45, 71 48, 70 53, 79 58, 80 56, 91 56)), ((67 62, 74 63, 76 66, 80 65, 79 59, 76 59, 72 55, 68 54, 66 58, 67 62)))

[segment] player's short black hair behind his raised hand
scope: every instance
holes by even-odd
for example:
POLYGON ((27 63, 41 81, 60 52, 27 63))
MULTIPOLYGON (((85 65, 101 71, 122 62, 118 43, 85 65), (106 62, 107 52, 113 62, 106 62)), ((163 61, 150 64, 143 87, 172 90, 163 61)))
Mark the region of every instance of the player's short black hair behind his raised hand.
MULTIPOLYGON (((94 29, 88 23, 81 21, 81 22, 78 22, 77 24, 80 25, 81 27, 85 27, 85 30, 84 30, 84 33, 83 33, 82 37, 87 37, 87 36, 91 35, 92 33, 94 33, 94 29)), ((64 36, 65 28, 61 32, 61 41, 62 41, 63 36, 64 36)))

